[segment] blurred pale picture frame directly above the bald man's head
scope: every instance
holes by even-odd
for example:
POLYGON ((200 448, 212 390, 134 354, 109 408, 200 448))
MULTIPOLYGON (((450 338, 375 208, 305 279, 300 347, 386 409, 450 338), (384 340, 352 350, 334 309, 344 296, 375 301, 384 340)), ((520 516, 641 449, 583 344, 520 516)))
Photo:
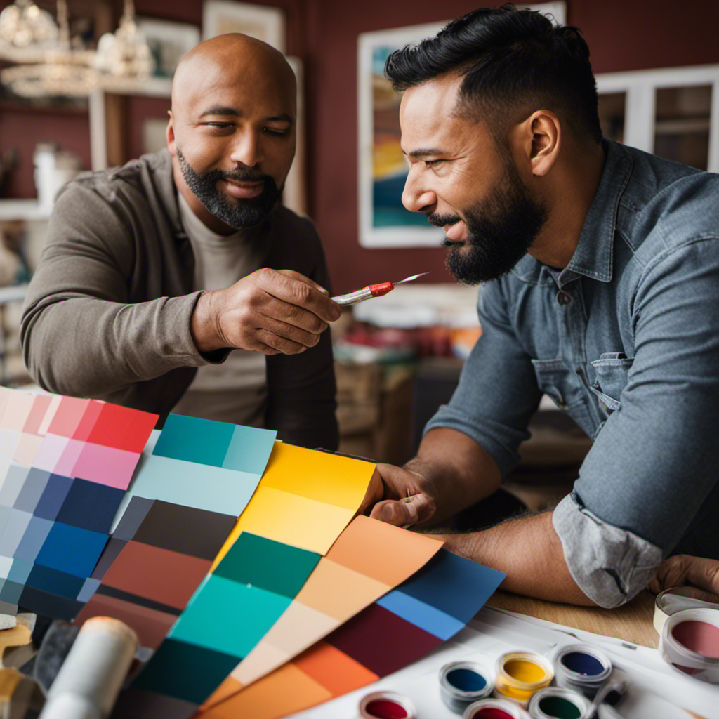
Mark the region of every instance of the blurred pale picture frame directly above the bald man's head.
POLYGON ((232 0, 205 0, 202 39, 226 32, 244 32, 285 52, 285 13, 278 7, 232 0))

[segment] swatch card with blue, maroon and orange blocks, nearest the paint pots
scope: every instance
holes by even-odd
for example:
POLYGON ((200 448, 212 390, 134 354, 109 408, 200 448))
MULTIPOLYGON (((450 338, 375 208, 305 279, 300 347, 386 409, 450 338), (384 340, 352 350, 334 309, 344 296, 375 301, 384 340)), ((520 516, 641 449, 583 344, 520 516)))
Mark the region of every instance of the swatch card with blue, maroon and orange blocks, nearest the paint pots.
POLYGON ((376 682, 453 636, 504 577, 443 549, 411 579, 283 667, 234 693, 237 682, 226 679, 196 717, 278 719, 376 682), (228 698, 210 706, 222 692, 228 698))

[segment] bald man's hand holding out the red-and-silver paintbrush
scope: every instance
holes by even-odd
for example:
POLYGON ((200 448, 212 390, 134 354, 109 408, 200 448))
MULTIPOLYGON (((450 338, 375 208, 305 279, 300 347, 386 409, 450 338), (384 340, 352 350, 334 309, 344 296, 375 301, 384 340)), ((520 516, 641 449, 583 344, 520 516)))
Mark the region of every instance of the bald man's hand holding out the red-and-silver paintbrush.
POLYGON ((293 270, 262 270, 198 299, 191 333, 200 352, 224 347, 298 354, 314 347, 342 308, 293 270))

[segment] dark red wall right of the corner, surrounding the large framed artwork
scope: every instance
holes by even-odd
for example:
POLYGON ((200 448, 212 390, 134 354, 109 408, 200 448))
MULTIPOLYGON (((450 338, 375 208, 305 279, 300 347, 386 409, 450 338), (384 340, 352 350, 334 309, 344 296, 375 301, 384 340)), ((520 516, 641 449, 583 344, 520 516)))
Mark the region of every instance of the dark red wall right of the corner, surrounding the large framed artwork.
MULTIPOLYGON (((357 35, 439 22, 480 6, 467 0, 310 0, 308 155, 311 215, 324 239, 334 288, 431 270, 451 278, 444 249, 362 249, 357 243, 357 35)), ((719 63, 717 0, 567 0, 567 22, 584 33, 597 73, 719 63)))

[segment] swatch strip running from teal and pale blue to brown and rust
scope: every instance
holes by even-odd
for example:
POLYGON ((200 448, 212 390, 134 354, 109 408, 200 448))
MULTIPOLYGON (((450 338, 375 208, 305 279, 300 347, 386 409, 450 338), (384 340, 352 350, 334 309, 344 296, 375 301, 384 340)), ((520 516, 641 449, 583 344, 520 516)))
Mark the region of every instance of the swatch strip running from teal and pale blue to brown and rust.
POLYGON ((170 414, 147 442, 77 623, 108 615, 157 649, 254 493, 276 434, 170 414))

